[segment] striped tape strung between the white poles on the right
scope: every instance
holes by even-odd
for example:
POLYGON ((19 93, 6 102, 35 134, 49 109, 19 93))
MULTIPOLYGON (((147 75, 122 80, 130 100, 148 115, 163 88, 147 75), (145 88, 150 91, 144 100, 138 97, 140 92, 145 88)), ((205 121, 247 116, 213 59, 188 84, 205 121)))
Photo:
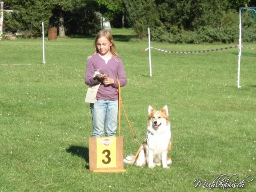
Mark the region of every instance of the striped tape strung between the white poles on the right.
MULTIPOLYGON (((212 51, 222 51, 222 50, 228 50, 228 49, 234 49, 236 47, 239 47, 238 45, 234 45, 234 46, 229 46, 229 47, 224 47, 224 48, 219 48, 219 49, 210 49, 210 50, 202 50, 202 51, 168 51, 168 50, 163 50, 163 49, 158 49, 156 47, 150 47, 151 49, 157 50, 157 51, 162 51, 165 53, 207 53, 207 52, 212 52, 212 51)), ((252 49, 252 50, 256 50, 255 48, 252 47, 246 47, 246 46, 242 46, 248 49, 252 49)), ((141 53, 145 53, 149 48, 145 49, 144 51, 142 51, 141 53)))

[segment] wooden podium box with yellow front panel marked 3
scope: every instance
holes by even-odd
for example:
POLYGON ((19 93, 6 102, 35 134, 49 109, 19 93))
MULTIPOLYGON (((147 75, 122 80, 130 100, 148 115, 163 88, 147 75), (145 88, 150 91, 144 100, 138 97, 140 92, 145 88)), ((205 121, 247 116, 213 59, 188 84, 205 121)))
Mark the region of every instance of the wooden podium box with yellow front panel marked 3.
POLYGON ((92 172, 125 172, 123 137, 89 138, 89 170, 92 172))

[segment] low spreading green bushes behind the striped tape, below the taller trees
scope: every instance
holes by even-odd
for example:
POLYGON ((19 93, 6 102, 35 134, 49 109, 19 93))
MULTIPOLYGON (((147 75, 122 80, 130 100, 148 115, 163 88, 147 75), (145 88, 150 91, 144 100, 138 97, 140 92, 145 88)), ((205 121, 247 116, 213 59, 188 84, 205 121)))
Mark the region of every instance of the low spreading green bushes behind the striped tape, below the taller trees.
MULTIPOLYGON (((238 20, 238 18, 236 18, 238 20)), ((196 30, 184 30, 173 27, 153 27, 150 29, 152 41, 166 43, 238 43, 239 20, 233 25, 213 28, 211 26, 199 27, 196 30)), ((243 42, 256 42, 256 21, 245 18, 243 22, 243 42)))

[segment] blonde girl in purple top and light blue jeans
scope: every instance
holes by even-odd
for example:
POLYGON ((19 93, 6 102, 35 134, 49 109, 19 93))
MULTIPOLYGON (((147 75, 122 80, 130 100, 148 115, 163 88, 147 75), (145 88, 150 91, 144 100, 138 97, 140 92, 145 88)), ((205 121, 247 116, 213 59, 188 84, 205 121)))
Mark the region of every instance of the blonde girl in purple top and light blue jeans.
POLYGON ((108 30, 99 31, 95 37, 94 52, 87 60, 85 84, 100 83, 94 103, 90 103, 92 113, 92 137, 115 137, 118 116, 118 82, 126 85, 123 62, 118 57, 112 35, 108 30), (97 71, 97 73, 95 73, 97 71))

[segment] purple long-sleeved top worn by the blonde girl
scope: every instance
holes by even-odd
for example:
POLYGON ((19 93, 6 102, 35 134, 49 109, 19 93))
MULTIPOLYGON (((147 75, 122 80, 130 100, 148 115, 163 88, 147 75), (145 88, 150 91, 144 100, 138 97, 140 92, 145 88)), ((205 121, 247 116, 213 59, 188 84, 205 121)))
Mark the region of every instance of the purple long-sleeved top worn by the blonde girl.
POLYGON ((97 78, 93 77, 94 71, 98 69, 106 69, 109 73, 109 77, 114 79, 114 84, 103 85, 101 83, 98 93, 96 95, 97 100, 118 100, 118 82, 119 79, 120 85, 125 86, 126 76, 124 71, 123 62, 120 58, 112 56, 108 60, 107 64, 104 59, 100 57, 98 53, 92 55, 86 64, 85 71, 85 84, 86 85, 95 85, 100 83, 97 78))

